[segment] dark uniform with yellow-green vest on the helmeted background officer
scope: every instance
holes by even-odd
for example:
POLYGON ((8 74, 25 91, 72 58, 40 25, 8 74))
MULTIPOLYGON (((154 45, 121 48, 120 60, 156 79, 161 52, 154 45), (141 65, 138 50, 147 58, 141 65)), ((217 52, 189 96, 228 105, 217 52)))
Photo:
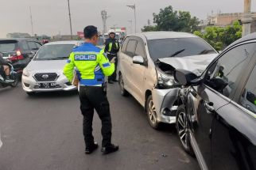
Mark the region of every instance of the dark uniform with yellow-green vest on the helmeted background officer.
POLYGON ((105 42, 105 53, 107 54, 107 58, 109 60, 113 59, 114 57, 116 57, 115 59, 115 70, 114 73, 108 78, 109 81, 116 81, 116 68, 117 68, 117 63, 118 63, 118 51, 120 48, 120 44, 118 42, 118 40, 116 39, 107 39, 105 42))

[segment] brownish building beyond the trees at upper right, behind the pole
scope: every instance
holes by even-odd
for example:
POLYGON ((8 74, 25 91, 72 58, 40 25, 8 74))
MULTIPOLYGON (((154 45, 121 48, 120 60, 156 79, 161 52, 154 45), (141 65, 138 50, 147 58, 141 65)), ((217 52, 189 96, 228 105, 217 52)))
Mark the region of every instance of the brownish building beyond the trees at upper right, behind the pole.
MULTIPOLYGON (((234 21, 241 21, 243 13, 217 13, 212 14, 208 17, 207 25, 215 25, 219 27, 224 27, 227 25, 232 25, 234 21)), ((251 32, 256 32, 256 13, 251 13, 253 22, 251 23, 251 32)))

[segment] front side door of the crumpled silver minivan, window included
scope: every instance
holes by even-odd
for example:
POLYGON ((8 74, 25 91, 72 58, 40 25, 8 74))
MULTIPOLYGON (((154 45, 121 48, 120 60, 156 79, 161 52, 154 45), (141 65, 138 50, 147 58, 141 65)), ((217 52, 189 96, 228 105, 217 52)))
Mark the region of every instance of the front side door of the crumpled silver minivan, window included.
POLYGON ((132 81, 130 81, 131 85, 132 85, 132 89, 134 91, 134 96, 138 97, 138 100, 141 104, 143 104, 144 102, 144 98, 145 98, 145 72, 147 70, 147 56, 145 55, 145 43, 143 42, 143 40, 141 38, 137 38, 138 43, 136 46, 136 50, 135 50, 135 54, 134 56, 142 56, 142 58, 145 61, 144 65, 140 65, 140 64, 131 64, 131 71, 133 75, 133 79, 132 81))

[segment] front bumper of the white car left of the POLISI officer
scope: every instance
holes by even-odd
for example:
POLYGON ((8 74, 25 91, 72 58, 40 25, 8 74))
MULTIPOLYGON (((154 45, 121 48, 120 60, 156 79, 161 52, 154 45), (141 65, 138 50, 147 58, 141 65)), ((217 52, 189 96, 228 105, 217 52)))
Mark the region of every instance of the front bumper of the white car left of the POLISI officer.
POLYGON ((25 92, 53 92, 53 91, 72 91, 77 90, 75 85, 71 85, 66 77, 60 76, 56 81, 36 81, 33 76, 26 77, 22 75, 21 78, 22 88, 25 92), (39 83, 56 83, 56 87, 52 89, 42 89, 39 87, 39 83))

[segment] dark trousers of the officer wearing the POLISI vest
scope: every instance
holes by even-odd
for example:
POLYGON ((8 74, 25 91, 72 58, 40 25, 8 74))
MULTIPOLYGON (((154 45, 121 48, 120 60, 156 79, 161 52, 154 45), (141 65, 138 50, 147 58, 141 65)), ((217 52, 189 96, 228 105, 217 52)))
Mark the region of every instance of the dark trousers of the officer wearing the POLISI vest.
POLYGON ((102 146, 111 144, 111 112, 110 104, 107 100, 107 93, 103 92, 102 87, 80 86, 80 108, 83 115, 83 136, 85 145, 90 146, 94 143, 92 135, 92 120, 94 109, 102 122, 101 133, 103 135, 102 146))

